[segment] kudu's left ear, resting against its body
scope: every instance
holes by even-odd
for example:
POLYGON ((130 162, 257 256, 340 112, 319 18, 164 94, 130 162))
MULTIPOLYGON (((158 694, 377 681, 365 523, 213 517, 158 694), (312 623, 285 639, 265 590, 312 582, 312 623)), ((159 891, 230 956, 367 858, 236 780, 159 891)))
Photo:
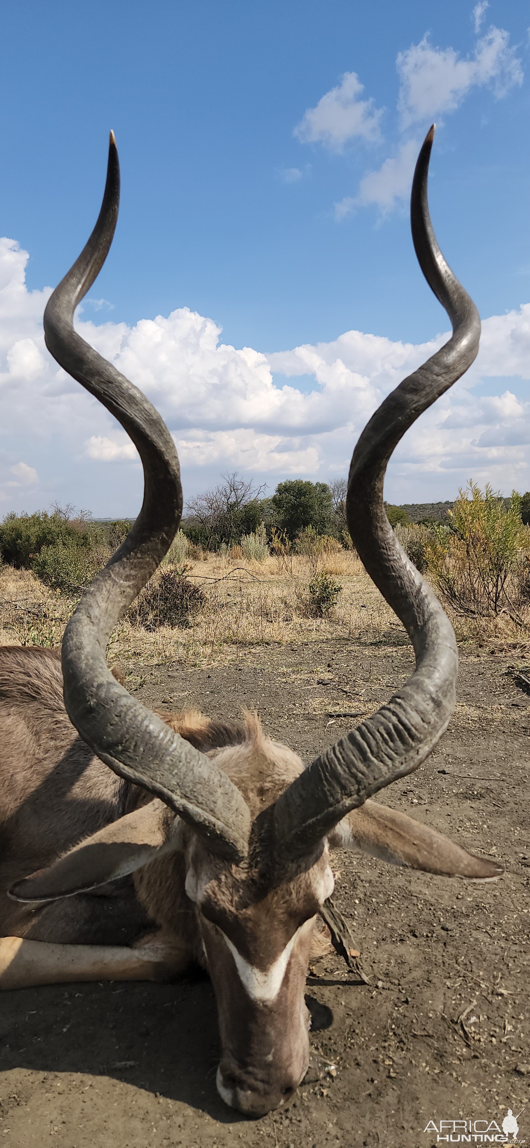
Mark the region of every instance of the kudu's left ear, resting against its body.
POLYGON ((125 877, 156 856, 179 848, 167 807, 155 799, 119 821, 85 838, 47 869, 17 881, 8 895, 14 901, 55 901, 84 893, 108 881, 125 877))

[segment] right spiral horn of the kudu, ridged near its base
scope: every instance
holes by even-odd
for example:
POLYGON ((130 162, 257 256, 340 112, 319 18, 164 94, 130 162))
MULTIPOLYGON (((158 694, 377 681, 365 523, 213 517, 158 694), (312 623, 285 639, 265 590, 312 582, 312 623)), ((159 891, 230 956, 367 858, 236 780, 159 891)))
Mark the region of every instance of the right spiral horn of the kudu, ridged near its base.
POLYGON ((419 416, 459 379, 478 351, 475 304, 445 262, 429 216, 427 180, 434 127, 420 150, 411 195, 411 228, 420 267, 447 311, 451 339, 388 395, 353 451, 348 526, 364 566, 404 623, 415 670, 373 718, 324 751, 281 794, 273 809, 275 855, 291 861, 351 809, 424 761, 455 704, 458 651, 452 626, 412 565, 388 521, 383 481, 389 458, 419 416))

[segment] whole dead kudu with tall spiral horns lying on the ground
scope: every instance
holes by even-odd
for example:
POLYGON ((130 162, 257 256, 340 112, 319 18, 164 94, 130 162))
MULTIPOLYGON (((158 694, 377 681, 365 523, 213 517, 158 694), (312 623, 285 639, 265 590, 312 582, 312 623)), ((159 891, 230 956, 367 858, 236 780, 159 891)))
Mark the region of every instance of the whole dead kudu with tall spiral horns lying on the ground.
POLYGON ((333 891, 330 848, 446 876, 501 872, 368 800, 424 761, 454 707, 453 630, 383 509, 396 444, 478 349, 477 311, 429 218, 431 144, 432 130, 414 174, 412 234, 453 334, 372 417, 348 487, 354 545, 405 625, 416 665, 390 701, 307 768, 270 740, 256 716, 236 726, 195 712, 155 714, 107 668, 109 635, 166 553, 182 510, 164 422, 72 325, 116 226, 112 135, 98 223, 45 312, 52 355, 134 442, 145 498, 67 627, 62 670, 48 650, 1 650, 0 987, 159 979, 197 961, 217 996, 218 1091, 251 1115, 280 1103, 307 1069, 304 983, 315 921, 333 891))

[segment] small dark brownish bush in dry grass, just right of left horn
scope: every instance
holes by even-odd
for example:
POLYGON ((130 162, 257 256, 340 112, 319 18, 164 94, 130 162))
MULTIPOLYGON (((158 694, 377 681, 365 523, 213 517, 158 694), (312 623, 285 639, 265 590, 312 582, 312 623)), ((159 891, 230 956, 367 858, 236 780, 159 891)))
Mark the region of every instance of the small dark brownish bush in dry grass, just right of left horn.
POLYGON ((159 626, 189 626, 205 602, 204 590, 186 577, 186 567, 158 571, 127 611, 130 621, 153 631, 159 626))

